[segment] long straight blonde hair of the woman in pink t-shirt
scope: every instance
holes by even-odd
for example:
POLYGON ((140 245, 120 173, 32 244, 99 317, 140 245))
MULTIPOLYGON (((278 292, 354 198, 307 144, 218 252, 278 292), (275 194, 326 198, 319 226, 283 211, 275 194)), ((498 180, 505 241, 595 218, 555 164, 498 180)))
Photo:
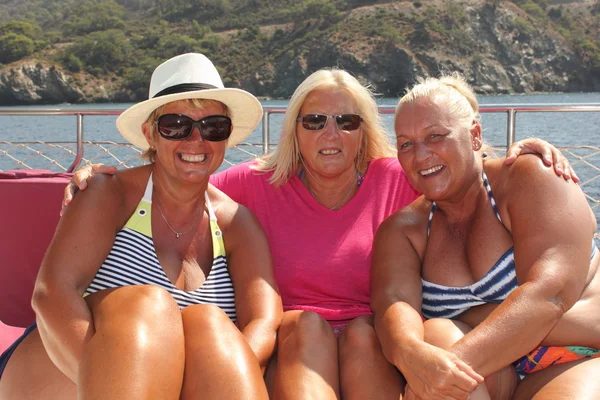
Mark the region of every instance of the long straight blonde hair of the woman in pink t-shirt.
POLYGON ((253 167, 257 171, 273 171, 269 182, 285 184, 302 163, 298 146, 296 119, 306 97, 314 90, 336 88, 346 91, 356 102, 358 113, 363 119, 362 142, 357 155, 357 168, 364 171, 374 158, 394 157, 395 149, 385 134, 377 103, 371 90, 363 86, 355 77, 341 69, 320 69, 306 78, 294 91, 283 118, 281 135, 277 148, 257 160, 253 167))

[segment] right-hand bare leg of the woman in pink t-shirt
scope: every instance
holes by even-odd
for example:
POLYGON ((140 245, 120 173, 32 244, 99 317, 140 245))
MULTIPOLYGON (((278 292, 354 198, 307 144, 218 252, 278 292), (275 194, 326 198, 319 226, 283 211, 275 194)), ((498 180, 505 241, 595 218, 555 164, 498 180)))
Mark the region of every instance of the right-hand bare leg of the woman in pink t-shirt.
POLYGON ((372 316, 350 322, 340 334, 338 343, 344 400, 400 398, 404 379, 383 355, 372 316))

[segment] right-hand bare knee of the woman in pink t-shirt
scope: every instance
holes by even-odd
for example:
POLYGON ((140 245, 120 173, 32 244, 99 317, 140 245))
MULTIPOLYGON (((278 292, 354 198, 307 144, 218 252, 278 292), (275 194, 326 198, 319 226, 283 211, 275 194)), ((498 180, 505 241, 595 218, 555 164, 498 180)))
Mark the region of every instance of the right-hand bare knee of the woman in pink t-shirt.
POLYGON ((373 327, 373 317, 368 315, 353 319, 340 334, 338 346, 340 358, 370 354, 379 349, 379 340, 373 327))

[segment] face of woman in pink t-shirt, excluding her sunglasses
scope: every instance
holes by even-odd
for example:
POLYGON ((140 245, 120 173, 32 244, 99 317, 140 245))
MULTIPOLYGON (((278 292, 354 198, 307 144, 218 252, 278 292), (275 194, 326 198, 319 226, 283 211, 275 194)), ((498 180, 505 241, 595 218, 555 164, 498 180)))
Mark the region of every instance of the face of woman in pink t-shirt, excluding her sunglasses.
MULTIPOLYGON (((306 96, 299 116, 306 114, 360 114, 358 105, 348 92, 338 88, 313 90, 306 96)), ((335 118, 329 118, 325 128, 308 130, 296 123, 298 146, 304 165, 313 174, 327 178, 341 176, 356 168, 355 162, 362 141, 362 128, 340 130, 335 118)))

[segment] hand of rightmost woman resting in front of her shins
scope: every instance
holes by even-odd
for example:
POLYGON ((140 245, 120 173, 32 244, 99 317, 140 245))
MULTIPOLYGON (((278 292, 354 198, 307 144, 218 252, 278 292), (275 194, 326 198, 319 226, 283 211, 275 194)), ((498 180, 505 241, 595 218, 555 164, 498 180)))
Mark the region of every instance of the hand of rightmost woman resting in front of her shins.
POLYGON ((405 359, 405 399, 468 399, 483 377, 456 355, 424 344, 405 359))

